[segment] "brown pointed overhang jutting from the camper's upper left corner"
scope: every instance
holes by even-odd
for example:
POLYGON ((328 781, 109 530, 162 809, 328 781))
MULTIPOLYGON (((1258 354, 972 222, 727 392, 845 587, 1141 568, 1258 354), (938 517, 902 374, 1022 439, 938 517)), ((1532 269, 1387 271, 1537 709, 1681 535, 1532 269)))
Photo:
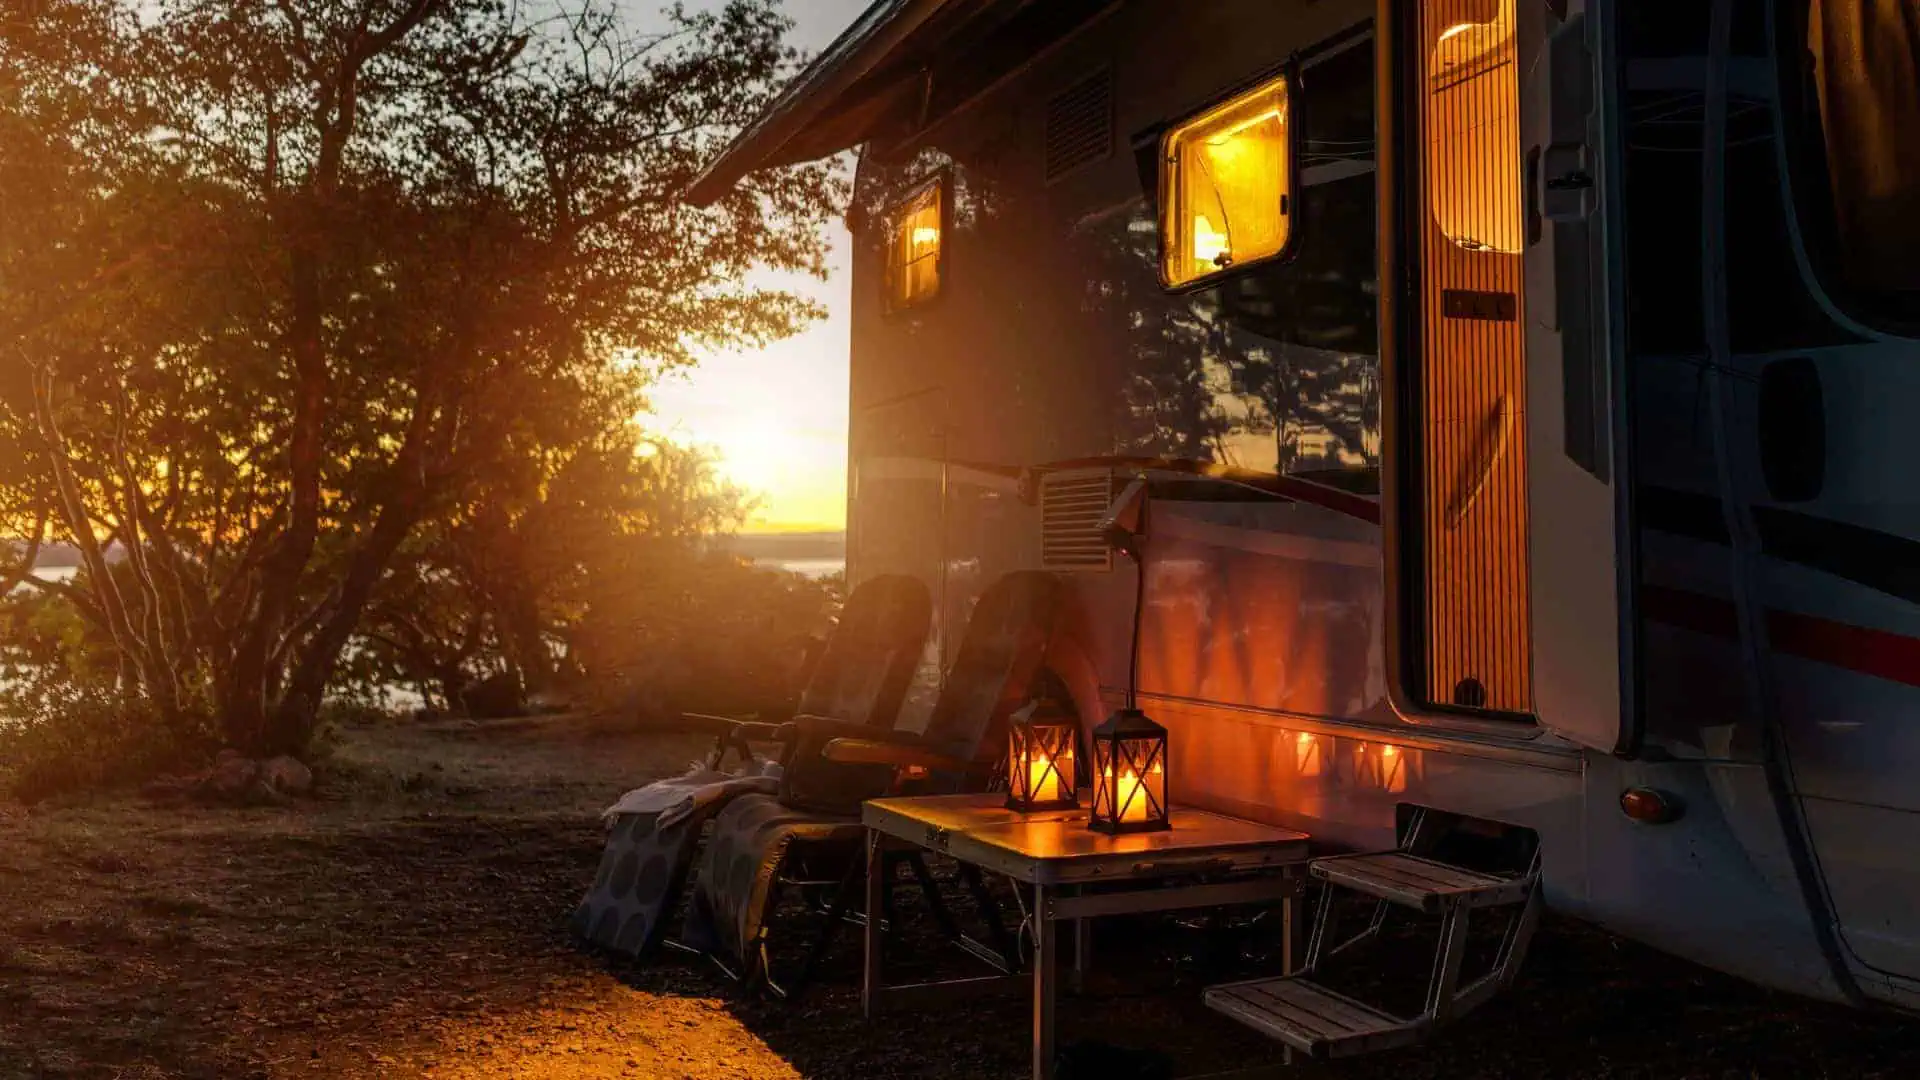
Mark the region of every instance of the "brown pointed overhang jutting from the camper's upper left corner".
POLYGON ((747 173, 826 158, 854 146, 922 85, 910 44, 956 0, 876 0, 685 190, 708 206, 747 173))

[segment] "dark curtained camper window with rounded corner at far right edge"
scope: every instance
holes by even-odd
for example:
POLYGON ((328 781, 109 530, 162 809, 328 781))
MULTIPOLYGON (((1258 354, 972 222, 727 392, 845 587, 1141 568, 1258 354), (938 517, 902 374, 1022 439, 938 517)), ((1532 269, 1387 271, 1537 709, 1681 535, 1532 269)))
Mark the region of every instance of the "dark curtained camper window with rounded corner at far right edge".
POLYGON ((1866 315, 1920 323, 1920 0, 1811 0, 1799 117, 1824 188, 1828 284, 1866 315), (1811 98, 1811 100, 1809 100, 1811 98))

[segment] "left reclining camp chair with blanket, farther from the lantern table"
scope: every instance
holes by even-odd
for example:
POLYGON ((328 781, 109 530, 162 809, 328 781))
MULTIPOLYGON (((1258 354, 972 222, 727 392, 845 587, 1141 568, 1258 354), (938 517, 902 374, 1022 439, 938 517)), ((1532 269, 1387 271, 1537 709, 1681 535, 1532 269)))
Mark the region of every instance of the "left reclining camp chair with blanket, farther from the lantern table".
MULTIPOLYGON (((824 717, 858 730, 885 730, 906 698, 927 640, 931 601, 920 580, 879 575, 860 582, 841 607, 826 651, 801 694, 799 715, 824 717)), ((574 934, 588 944, 651 955, 664 940, 668 915, 680 905, 701 830, 733 798, 776 788, 764 771, 722 773, 726 753, 737 749, 755 765, 751 746, 785 742, 791 724, 685 715, 684 726, 714 732, 707 769, 672 776, 630 792, 612 811, 599 874, 574 911, 574 934)), ((781 753, 785 757, 787 753, 781 753)), ((872 765, 833 767, 839 774, 818 780, 866 782, 891 776, 872 765)))

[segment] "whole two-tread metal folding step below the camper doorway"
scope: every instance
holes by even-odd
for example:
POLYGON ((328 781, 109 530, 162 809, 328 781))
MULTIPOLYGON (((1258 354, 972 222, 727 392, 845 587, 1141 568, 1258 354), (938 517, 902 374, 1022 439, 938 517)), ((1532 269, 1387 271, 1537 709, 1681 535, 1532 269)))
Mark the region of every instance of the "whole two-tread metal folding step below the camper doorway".
POLYGON ((1204 1001, 1242 1024, 1313 1059, 1352 1057, 1417 1043, 1438 1026, 1488 1001, 1519 976, 1540 919, 1540 855, 1523 874, 1488 874, 1442 863, 1425 853, 1427 815, 1419 815, 1404 847, 1365 855, 1334 855, 1308 865, 1321 882, 1319 911, 1306 965, 1279 978, 1229 982, 1204 992, 1204 1001), (1350 890, 1371 896, 1373 917, 1359 932, 1332 944, 1332 896, 1350 890), (1380 936, 1390 907, 1438 917, 1438 945, 1427 982, 1427 1005, 1417 1017, 1396 1017, 1315 982, 1327 959, 1380 936), (1461 984, 1467 917, 1505 907, 1500 951, 1488 970, 1461 984))

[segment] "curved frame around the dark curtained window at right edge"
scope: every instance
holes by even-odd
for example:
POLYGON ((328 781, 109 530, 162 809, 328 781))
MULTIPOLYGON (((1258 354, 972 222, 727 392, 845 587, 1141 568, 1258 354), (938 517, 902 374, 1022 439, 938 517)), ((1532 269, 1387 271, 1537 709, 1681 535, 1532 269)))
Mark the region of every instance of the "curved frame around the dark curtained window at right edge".
POLYGON ((1768 4, 1774 46, 1776 138, 1780 144, 1780 179, 1786 213, 1793 225, 1807 286, 1836 315, 1866 329, 1899 338, 1920 338, 1920 292, 1872 294, 1847 282, 1839 259, 1839 223, 1834 190, 1828 183, 1826 121, 1820 102, 1807 85, 1807 0, 1774 0, 1768 4), (1782 4, 1788 4, 1782 10, 1782 4))

